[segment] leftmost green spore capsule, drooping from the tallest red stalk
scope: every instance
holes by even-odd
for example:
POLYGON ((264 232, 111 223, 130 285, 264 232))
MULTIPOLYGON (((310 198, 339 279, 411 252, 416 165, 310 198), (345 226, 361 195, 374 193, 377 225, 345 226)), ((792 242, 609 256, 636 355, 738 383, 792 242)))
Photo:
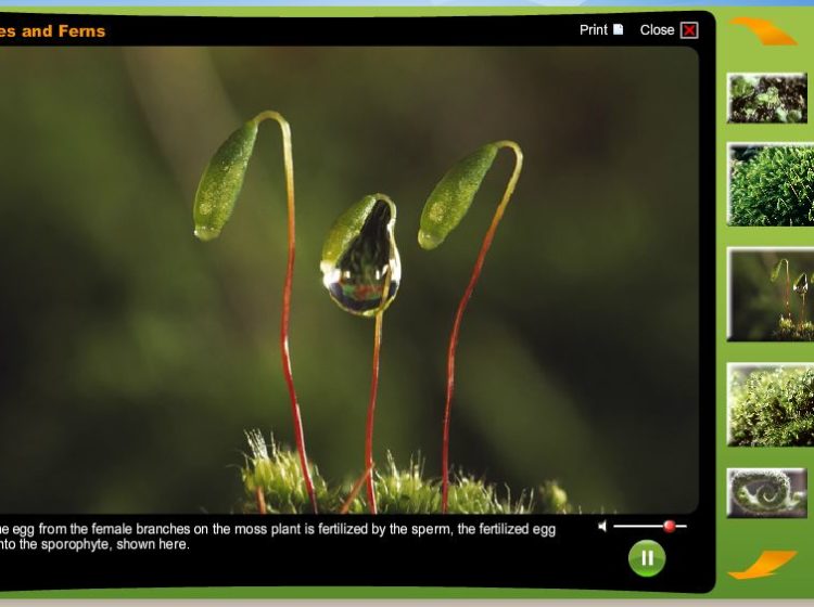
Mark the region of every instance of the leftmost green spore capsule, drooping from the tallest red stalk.
POLYGON ((243 188, 243 178, 257 139, 253 119, 229 135, 206 165, 195 193, 192 218, 195 236, 202 241, 218 237, 243 188))

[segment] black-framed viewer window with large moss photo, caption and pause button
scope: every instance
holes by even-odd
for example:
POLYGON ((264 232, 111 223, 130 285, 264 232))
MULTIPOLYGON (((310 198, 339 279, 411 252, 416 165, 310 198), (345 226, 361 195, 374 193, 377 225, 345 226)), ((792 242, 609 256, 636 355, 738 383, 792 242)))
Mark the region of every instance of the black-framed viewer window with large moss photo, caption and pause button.
POLYGON ((21 34, 59 20, 18 18, 0 49, 0 513, 30 527, 0 540, 39 542, 18 556, 109 555, 80 587, 296 585, 287 564, 104 572, 400 542, 435 553, 424 570, 399 573, 405 554, 308 583, 711 585, 711 550, 652 579, 568 558, 493 579, 467 554, 589 538, 601 558, 643 524, 669 555, 712 545, 708 15, 370 36, 75 17, 93 37, 60 47, 21 34), (432 566, 449 551, 460 573, 432 566))

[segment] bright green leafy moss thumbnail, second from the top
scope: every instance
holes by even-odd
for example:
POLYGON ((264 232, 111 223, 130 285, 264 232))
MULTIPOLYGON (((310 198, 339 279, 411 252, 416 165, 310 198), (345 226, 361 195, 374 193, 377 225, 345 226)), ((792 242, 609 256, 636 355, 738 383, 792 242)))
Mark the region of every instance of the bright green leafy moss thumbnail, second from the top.
POLYGON ((729 144, 730 225, 814 225, 814 146, 729 144))

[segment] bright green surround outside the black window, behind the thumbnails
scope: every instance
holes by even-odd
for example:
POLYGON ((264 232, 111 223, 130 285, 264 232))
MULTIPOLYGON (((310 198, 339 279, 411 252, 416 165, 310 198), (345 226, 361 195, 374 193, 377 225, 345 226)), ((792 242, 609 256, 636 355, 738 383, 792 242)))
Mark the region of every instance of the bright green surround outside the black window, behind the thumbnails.
MULTIPOLYGON (((814 518, 785 520, 729 520, 726 518, 726 468, 814 468, 814 449, 733 449, 726 447, 727 362, 814 362, 814 346, 804 344, 728 344, 726 341, 727 246, 814 246, 806 228, 753 229, 726 227, 726 145, 737 141, 814 142, 811 125, 727 125, 726 74, 729 72, 810 72, 814 53, 814 8, 162 8, 162 7, 4 7, 2 12, 49 14, 200 15, 200 16, 460 16, 592 14, 705 10, 717 21, 716 103, 716 487, 717 583, 703 598, 814 597, 814 518), (796 47, 764 47, 737 16, 771 20, 799 42, 796 47), (727 571, 747 569, 764 550, 796 550, 799 554, 774 576, 736 581, 727 571)), ((2 16, 0 16, 2 21, 2 16)), ((544 568, 545 564, 540 564, 544 568)), ((645 592, 462 589, 462 587, 204 587, 118 589, 0 593, 3 598, 688 598, 699 595, 645 592)))

